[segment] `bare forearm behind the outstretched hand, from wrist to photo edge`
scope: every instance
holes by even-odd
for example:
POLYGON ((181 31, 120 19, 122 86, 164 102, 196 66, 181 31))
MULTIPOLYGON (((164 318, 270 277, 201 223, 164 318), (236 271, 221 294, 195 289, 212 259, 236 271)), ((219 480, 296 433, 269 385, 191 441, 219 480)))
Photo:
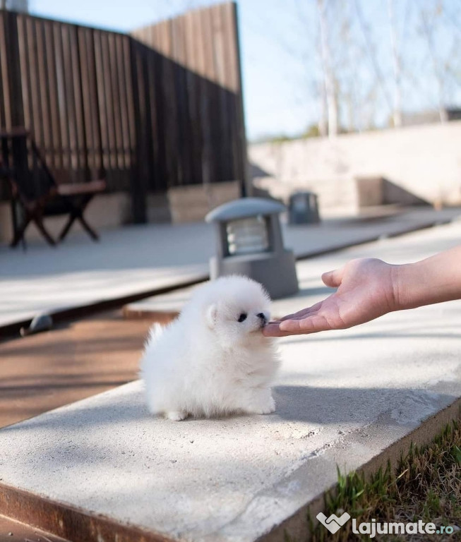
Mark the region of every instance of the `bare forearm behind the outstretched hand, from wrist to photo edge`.
POLYGON ((393 266, 395 311, 461 299, 461 245, 417 263, 393 266))

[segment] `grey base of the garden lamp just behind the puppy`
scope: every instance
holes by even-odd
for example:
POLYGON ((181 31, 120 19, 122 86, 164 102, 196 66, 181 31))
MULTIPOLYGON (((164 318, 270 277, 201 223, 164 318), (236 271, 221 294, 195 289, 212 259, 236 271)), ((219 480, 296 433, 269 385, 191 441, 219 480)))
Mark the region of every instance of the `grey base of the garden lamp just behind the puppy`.
POLYGON ((225 275, 246 275, 261 282, 271 299, 291 296, 299 289, 292 251, 227 256, 222 260, 216 257, 210 258, 211 279, 225 275))

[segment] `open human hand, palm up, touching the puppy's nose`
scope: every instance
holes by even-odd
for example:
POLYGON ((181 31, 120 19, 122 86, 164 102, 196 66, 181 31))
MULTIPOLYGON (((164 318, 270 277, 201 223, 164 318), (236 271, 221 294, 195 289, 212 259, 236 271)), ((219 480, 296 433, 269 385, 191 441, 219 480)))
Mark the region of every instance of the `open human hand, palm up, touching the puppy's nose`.
POLYGON ((285 337, 342 330, 395 311, 396 267, 375 258, 363 258, 323 273, 326 286, 337 291, 316 305, 268 323, 263 335, 285 337))

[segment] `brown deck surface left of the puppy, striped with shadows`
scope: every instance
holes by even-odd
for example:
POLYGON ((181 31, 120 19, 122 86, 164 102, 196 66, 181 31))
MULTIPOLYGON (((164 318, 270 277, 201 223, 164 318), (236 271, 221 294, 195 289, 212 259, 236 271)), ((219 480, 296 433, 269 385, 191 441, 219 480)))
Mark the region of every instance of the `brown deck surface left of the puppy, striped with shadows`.
POLYGON ((135 380, 152 318, 121 311, 0 344, 0 427, 135 380))

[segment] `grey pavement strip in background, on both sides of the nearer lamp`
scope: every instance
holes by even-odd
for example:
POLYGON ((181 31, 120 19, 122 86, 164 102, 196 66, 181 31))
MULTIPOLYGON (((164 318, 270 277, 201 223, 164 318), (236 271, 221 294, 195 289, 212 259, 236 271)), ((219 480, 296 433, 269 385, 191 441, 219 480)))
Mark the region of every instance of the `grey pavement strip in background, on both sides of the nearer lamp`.
MULTIPOLYGON (((392 236, 455 219, 460 209, 421 207, 390 217, 325 220, 284 227, 297 256, 392 236)), ((100 243, 85 234, 50 248, 36 241, 28 251, 0 248, 0 327, 59 311, 203 278, 215 241, 210 225, 150 224, 102 232, 100 243)))

